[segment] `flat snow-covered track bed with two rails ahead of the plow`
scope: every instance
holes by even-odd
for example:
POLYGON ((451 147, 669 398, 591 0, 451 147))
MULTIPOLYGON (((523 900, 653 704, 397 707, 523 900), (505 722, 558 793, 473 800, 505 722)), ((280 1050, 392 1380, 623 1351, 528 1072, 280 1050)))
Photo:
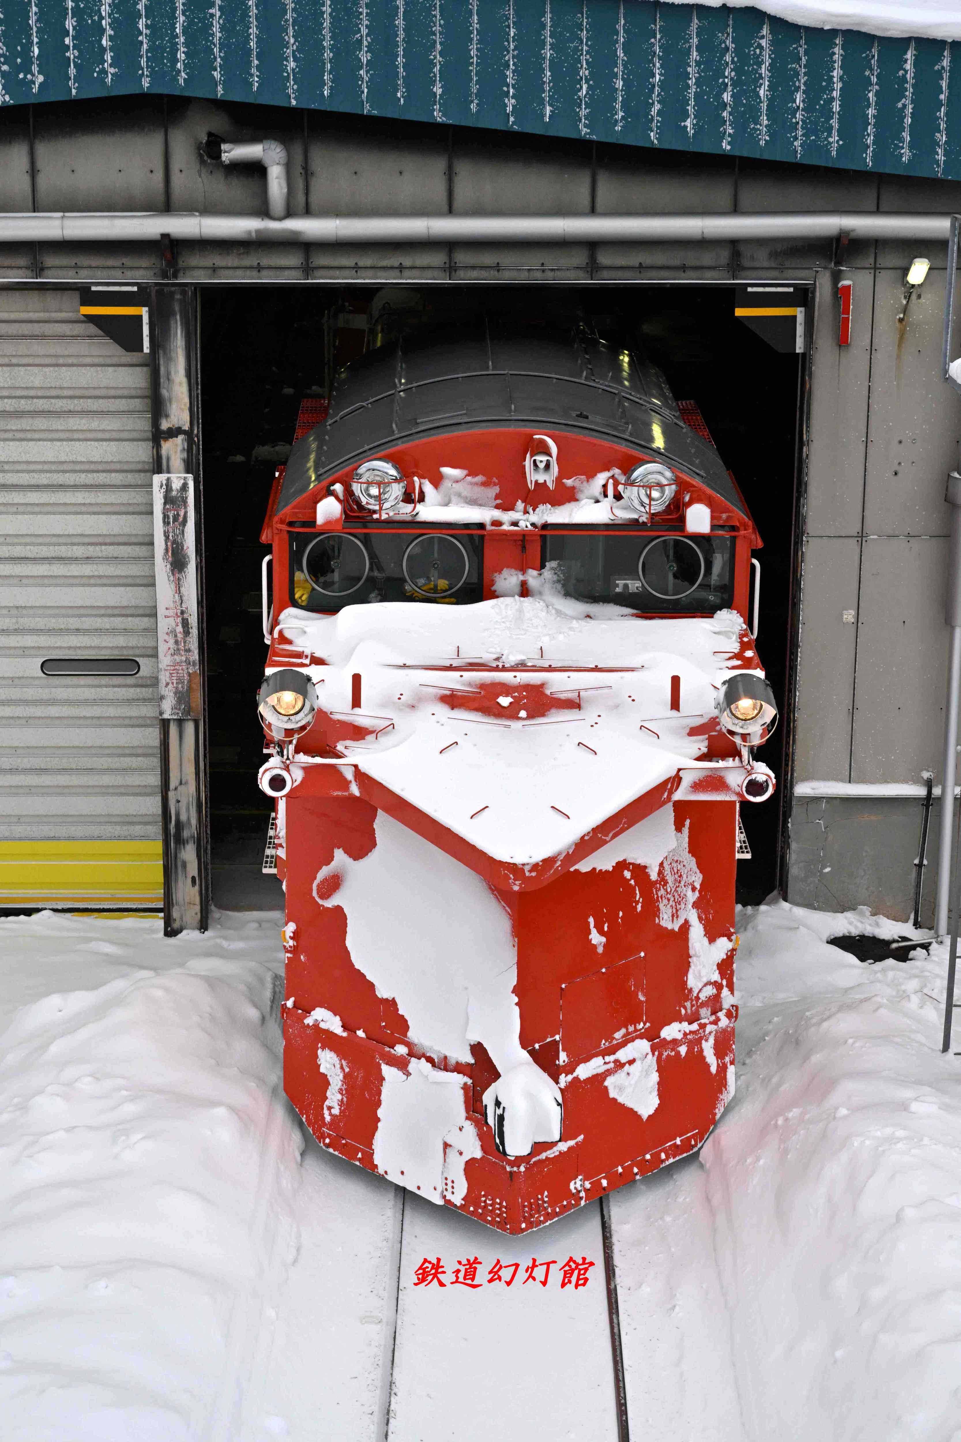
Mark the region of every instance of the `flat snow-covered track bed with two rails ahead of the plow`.
POLYGON ((205 1442, 751 1435, 697 1156, 509 1237, 307 1135, 294 1249, 272 1155, 265 1136, 252 1201, 277 1265, 232 1319, 205 1442), (568 1257, 588 1263, 579 1288, 560 1286, 568 1257), (475 1285, 455 1280, 474 1259, 475 1285))

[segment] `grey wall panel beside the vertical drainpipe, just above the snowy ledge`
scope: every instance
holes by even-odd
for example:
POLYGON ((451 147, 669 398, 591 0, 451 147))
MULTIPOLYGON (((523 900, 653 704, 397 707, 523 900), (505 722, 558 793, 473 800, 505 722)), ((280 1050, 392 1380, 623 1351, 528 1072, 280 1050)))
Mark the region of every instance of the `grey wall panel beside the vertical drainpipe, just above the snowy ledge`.
POLYGON ((941 780, 947 558, 945 539, 864 541, 853 782, 919 782, 925 769, 941 780))

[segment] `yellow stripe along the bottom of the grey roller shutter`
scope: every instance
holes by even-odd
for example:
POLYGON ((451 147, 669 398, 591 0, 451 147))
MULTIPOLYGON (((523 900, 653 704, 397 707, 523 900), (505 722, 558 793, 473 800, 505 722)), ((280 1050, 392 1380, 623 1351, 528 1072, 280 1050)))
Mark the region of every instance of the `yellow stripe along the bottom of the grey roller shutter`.
POLYGON ((0 906, 161 903, 158 841, 0 841, 0 906))

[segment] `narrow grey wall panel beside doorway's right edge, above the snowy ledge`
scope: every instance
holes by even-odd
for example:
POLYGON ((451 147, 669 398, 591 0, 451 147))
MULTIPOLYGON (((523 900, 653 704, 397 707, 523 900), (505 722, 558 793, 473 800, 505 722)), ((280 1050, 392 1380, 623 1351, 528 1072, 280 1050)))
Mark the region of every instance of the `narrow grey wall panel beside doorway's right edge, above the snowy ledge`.
POLYGON ((859 542, 808 538, 801 580, 795 780, 846 782, 850 764, 859 542))

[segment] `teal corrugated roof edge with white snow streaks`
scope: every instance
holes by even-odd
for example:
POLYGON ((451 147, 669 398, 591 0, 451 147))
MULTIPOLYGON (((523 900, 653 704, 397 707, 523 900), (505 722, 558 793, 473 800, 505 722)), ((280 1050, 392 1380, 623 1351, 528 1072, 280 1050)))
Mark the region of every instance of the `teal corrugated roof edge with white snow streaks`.
POLYGON ((9 0, 0 104, 167 94, 961 179, 961 42, 654 0, 9 0))

